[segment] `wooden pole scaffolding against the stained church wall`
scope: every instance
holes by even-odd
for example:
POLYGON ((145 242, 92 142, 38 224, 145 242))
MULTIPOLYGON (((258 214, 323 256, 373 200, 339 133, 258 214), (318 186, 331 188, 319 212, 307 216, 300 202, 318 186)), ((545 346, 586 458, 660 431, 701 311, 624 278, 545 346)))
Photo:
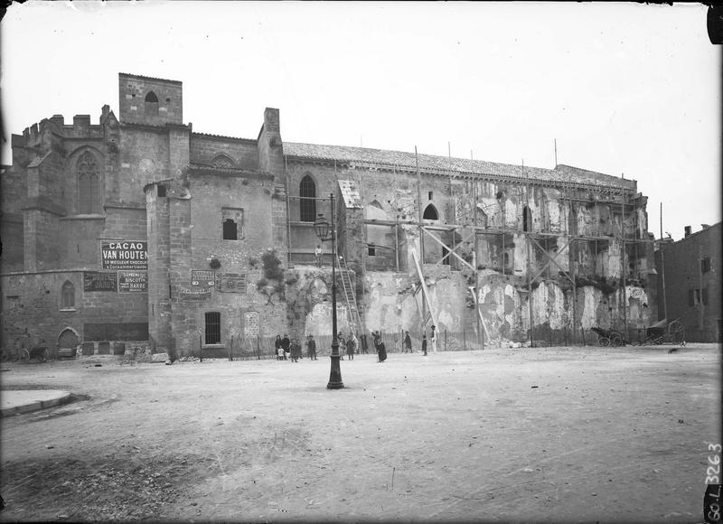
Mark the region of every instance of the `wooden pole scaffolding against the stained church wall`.
MULTIPOLYGON (((350 163, 351 164, 351 163, 350 163)), ((369 167, 365 165, 364 163, 356 163, 360 164, 359 167, 369 167)), ((524 164, 524 163, 523 163, 524 164)), ((385 169, 389 169, 390 172, 397 173, 398 169, 397 166, 383 166, 385 169)), ((577 341, 577 329, 580 328, 577 314, 578 314, 578 305, 577 305, 577 286, 578 286, 578 270, 577 266, 581 265, 582 263, 576 260, 576 255, 580 252, 580 245, 582 243, 588 243, 589 247, 595 248, 595 258, 596 258, 596 265, 597 260, 603 260, 603 257, 600 256, 600 247, 602 246, 602 250, 604 251, 606 249, 606 246, 609 245, 611 241, 617 240, 621 244, 621 256, 620 256, 620 267, 621 267, 621 274, 620 279, 622 280, 622 290, 623 290, 623 324, 624 324, 624 332, 627 332, 627 301, 625 299, 626 297, 626 284, 627 284, 627 274, 629 272, 629 258, 628 255, 628 246, 632 248, 633 258, 635 260, 635 264, 639 265, 639 252, 638 247, 641 245, 645 245, 646 243, 653 242, 654 240, 651 239, 643 239, 640 238, 641 235, 637 234, 640 229, 640 224, 637 216, 637 209, 639 207, 639 204, 635 201, 639 199, 640 193, 634 194, 632 189, 625 188, 624 183, 621 182, 619 185, 608 185, 608 186, 600 186, 599 184, 592 184, 587 182, 572 182, 571 179, 569 179, 566 182, 560 182, 560 181, 540 181, 535 180, 534 182, 531 182, 529 177, 529 172, 525 170, 524 165, 522 165, 523 170, 523 177, 498 177, 498 176, 487 176, 487 175, 476 175, 474 173, 427 173, 428 170, 425 170, 425 174, 432 174, 432 175, 439 175, 444 174, 449 177, 450 185, 453 181, 459 181, 459 180, 469 180, 472 182, 472 191, 471 191, 471 197, 473 201, 473 220, 472 223, 442 223, 442 222, 435 222, 430 223, 429 220, 425 220, 423 218, 423 206, 422 206, 422 199, 421 199, 421 172, 419 169, 418 159, 417 159, 417 148, 415 147, 415 168, 414 172, 412 172, 410 169, 406 170, 400 170, 399 172, 406 173, 415 173, 417 178, 417 211, 418 211, 418 220, 412 220, 412 219, 401 219, 399 218, 399 215, 395 216, 394 220, 381 220, 381 219, 364 219, 362 220, 362 245, 365 248, 374 248, 376 249, 382 249, 382 250, 391 250, 394 253, 394 260, 393 260, 393 267, 396 269, 396 271, 399 272, 400 269, 400 259, 399 259, 399 253, 400 253, 400 240, 399 240, 399 230, 401 228, 411 228, 411 229, 418 229, 418 247, 419 247, 419 253, 417 253, 415 250, 411 250, 412 258, 414 259, 415 263, 415 271, 414 273, 417 274, 419 283, 415 287, 414 294, 415 299, 416 295, 419 293, 422 294, 421 300, 418 302, 418 308, 419 308, 419 316, 420 316, 420 327, 422 332, 424 332, 425 328, 427 327, 427 323, 432 322, 435 325, 438 325, 435 320, 435 315, 432 312, 432 302, 429 299, 427 292, 428 290, 425 289, 425 274, 424 269, 426 266, 429 266, 430 264, 433 266, 437 266, 439 264, 448 264, 450 260, 455 260, 457 267, 466 267, 472 272, 472 275, 474 276, 474 286, 469 286, 469 291, 474 297, 474 308, 475 308, 475 325, 476 325, 476 333, 477 333, 477 342, 479 347, 484 348, 484 340, 485 337, 489 340, 490 333, 484 323, 484 317, 480 311, 479 308, 479 285, 480 285, 480 274, 479 274, 479 260, 476 259, 477 254, 480 253, 480 239, 484 237, 493 237, 495 239, 498 239, 496 242, 498 245, 502 246, 502 256, 500 257, 497 264, 493 265, 493 268, 498 269, 502 275, 510 275, 514 274, 513 269, 511 272, 511 267, 514 267, 514 260, 513 257, 509 257, 509 259, 506 259, 505 254, 507 253, 507 248, 509 244, 511 243, 511 240, 514 236, 522 237, 524 241, 526 242, 526 250, 527 250, 527 271, 526 271, 526 281, 524 282, 528 295, 528 313, 529 313, 529 341, 533 343, 533 327, 534 327, 534 319, 533 319, 533 294, 532 294, 532 287, 536 283, 540 282, 544 278, 552 278, 553 277, 553 271, 557 269, 557 276, 564 279, 565 281, 569 282, 569 285, 571 286, 571 309, 572 309, 572 319, 571 322, 569 322, 569 325, 572 328, 573 334, 572 340, 573 342, 577 341), (504 199, 502 197, 498 197, 498 201, 496 204, 487 204, 484 205, 483 202, 479 201, 478 198, 478 183, 479 182, 495 182, 495 183, 509 183, 514 184, 515 187, 517 187, 518 194, 518 211, 519 211, 519 202, 524 201, 525 206, 523 213, 525 213, 525 217, 522 220, 522 224, 518 222, 516 227, 510 227, 510 224, 508 224, 508 216, 507 216, 507 210, 506 210, 506 204, 504 203, 504 199), (544 223, 542 225, 543 229, 534 230, 533 223, 531 221, 531 216, 528 219, 527 214, 530 210, 529 203, 531 198, 531 186, 555 186, 559 189, 560 192, 560 199, 563 201, 562 208, 564 211, 564 219, 560 220, 561 225, 559 231, 550 231, 549 230, 549 224, 544 223), (595 192, 596 197, 593 198, 592 195, 590 195, 588 198, 581 198, 579 195, 577 195, 577 192, 584 192, 584 191, 590 191, 595 192), (631 198, 632 197, 632 198, 631 198), (578 216, 575 209, 576 204, 579 205, 581 203, 585 203, 589 208, 592 208, 592 213, 596 217, 596 227, 593 229, 594 234, 578 234, 578 227, 577 227, 577 221, 578 216), (609 213, 611 215, 611 223, 606 226, 605 228, 600 228, 600 220, 601 217, 601 209, 602 206, 607 207, 606 213, 609 213), (499 207, 499 211, 496 210, 496 208, 499 207), (495 208, 494 212, 492 211, 493 208, 495 208), (617 208, 620 213, 620 229, 619 233, 615 230, 615 213, 617 212, 615 210, 617 208), (625 220, 626 217, 629 216, 630 211, 634 212, 633 217, 633 225, 634 228, 634 235, 632 238, 628 238, 628 235, 626 233, 626 227, 625 227, 625 220), (479 223, 479 215, 480 211, 484 213, 484 217, 486 220, 484 220, 484 224, 479 223), (500 215, 501 219, 495 219, 496 215, 500 215), (527 219, 527 220, 525 220, 527 219), (490 221, 496 222, 500 225, 494 226, 490 224, 490 221), (564 222, 564 226, 562 223, 564 222), (525 227, 525 223, 526 226, 525 227), (390 227, 394 229, 394 235, 393 235, 393 241, 394 246, 383 246, 380 245, 378 242, 370 242, 369 241, 369 226, 384 226, 384 227, 390 227), (609 234, 601 234, 601 230, 607 230, 609 234), (451 237, 451 241, 446 241, 445 239, 441 238, 444 233, 448 233, 451 237), (457 240, 458 236, 458 240, 457 240), (473 256, 472 256, 472 263, 468 259, 465 259, 465 257, 460 256, 459 254, 459 248, 465 245, 465 243, 468 243, 470 240, 474 241, 474 249, 473 249, 473 256), (425 260, 425 244, 426 241, 431 241, 433 245, 440 246, 442 248, 442 257, 437 257, 436 260, 431 262, 430 264, 427 264, 427 261, 425 260), (632 246, 631 246, 632 245, 632 246), (540 265, 535 264, 536 268, 533 268, 532 260, 538 260, 540 258, 540 253, 542 254, 542 259, 540 265), (568 257, 568 264, 567 268, 563 267, 564 265, 560 261, 561 257, 568 257), (427 312, 427 310, 429 310, 427 312)), ((571 175, 570 175, 571 176, 571 175)), ((334 180, 337 180, 338 177, 336 176, 336 164, 334 161, 334 180)), ((624 178, 621 178, 621 181, 624 181, 624 178)), ((504 195, 502 195, 504 196, 504 195)), ((587 195, 586 195, 587 196, 587 195)), ((286 199, 287 202, 292 199, 299 199, 301 197, 295 197, 293 195, 290 195, 290 192, 286 191, 286 199)), ((323 201, 328 200, 324 198, 316 198, 317 201, 323 201)), ((287 204, 287 209, 289 209, 289 206, 287 204)), ((517 213, 517 217, 519 220, 520 213, 517 213)), ((543 220, 544 221, 544 220, 543 220)), ((293 222, 289 220, 289 237, 291 235, 291 227, 297 226, 297 222, 293 222)), ((289 239, 289 243, 291 240, 289 239)), ((289 244, 290 245, 290 244, 289 244)), ((512 252, 513 255, 513 252, 512 252)), ((366 258, 368 257, 368 253, 364 253, 361 257, 361 267, 362 267, 362 274, 364 274, 367 271, 367 262, 366 258)), ((289 260, 291 260, 291 253, 289 253, 289 260)), ((602 262, 601 262, 602 263, 602 262)), ((583 268, 581 268, 582 270, 583 268)), ((605 270, 605 267, 601 267, 601 270, 605 270)), ((597 270, 594 271, 594 273, 598 273, 597 270)), ((587 273, 586 273, 587 274, 587 273)), ((363 285, 363 279, 362 279, 362 285, 363 285)), ((355 299, 354 299, 355 302, 355 299)), ((506 314, 507 311, 504 311, 504 314, 506 314)), ((360 316, 360 323, 362 322, 362 312, 359 311, 357 308, 357 314, 360 316)), ((363 325, 363 324, 362 324, 363 325)), ((584 336, 584 334, 583 334, 584 336)), ((567 335, 566 335, 567 338, 567 335)))

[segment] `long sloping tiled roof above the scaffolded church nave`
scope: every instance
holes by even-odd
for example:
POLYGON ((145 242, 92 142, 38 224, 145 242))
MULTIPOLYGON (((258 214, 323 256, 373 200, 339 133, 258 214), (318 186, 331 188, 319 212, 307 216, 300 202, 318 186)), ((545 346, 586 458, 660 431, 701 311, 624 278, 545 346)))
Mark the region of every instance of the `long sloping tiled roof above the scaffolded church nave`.
MULTIPOLYGON (((400 170, 415 170, 415 154, 403 151, 388 151, 385 149, 371 149, 368 147, 352 147, 346 145, 315 145, 299 144, 295 142, 284 143, 284 153, 298 158, 337 160, 358 164, 377 165, 380 167, 396 167, 400 170)), ((620 182, 615 177, 610 181, 601 181, 607 175, 594 173, 577 168, 559 171, 513 164, 499 164, 485 162, 484 160, 471 160, 465 158, 449 158, 433 154, 418 154, 419 171, 424 173, 464 174, 464 175, 493 175, 531 181, 549 181, 560 183, 584 183, 596 186, 619 187, 620 182)))

